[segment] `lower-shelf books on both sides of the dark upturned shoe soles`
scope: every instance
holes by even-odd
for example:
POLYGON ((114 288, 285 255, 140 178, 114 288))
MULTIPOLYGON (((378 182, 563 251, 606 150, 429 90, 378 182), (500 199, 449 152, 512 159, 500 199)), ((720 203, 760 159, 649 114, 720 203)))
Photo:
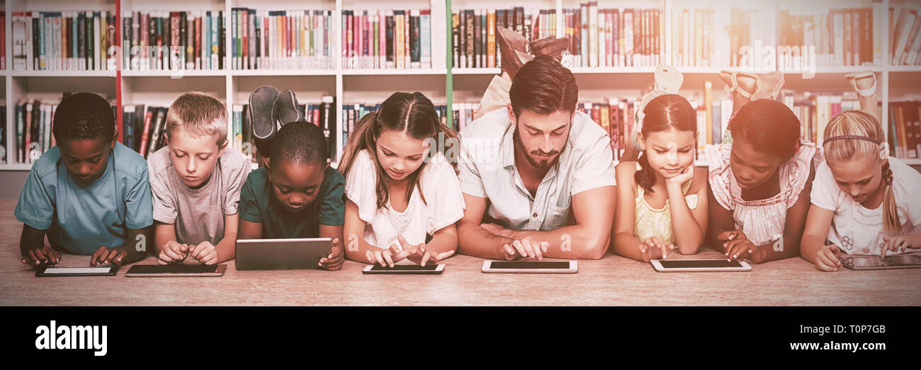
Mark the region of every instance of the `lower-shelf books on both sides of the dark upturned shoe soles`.
MULTIPOLYGON (((298 109, 304 118, 320 126, 326 135, 327 145, 330 150, 330 160, 335 160, 335 98, 324 96, 319 103, 306 103, 298 105, 298 109)), ((234 149, 243 154, 250 156, 252 162, 256 162, 259 151, 252 141, 252 128, 250 121, 250 105, 234 104, 231 107, 230 117, 230 143, 234 149)))

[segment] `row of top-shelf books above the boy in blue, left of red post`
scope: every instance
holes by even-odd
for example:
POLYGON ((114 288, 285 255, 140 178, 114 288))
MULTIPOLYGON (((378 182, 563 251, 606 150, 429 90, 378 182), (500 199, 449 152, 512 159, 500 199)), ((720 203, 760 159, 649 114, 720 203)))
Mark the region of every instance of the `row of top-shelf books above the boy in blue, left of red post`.
POLYGON ((115 26, 107 11, 13 12, 13 69, 112 71, 115 26))

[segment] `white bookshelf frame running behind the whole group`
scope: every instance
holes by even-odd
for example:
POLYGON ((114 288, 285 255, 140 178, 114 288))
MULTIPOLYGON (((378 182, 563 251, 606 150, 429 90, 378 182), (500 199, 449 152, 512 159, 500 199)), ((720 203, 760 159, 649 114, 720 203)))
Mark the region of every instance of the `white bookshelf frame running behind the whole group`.
MULTIPOLYGON (((792 0, 760 1, 751 5, 738 5, 738 2, 711 0, 697 2, 687 0, 600 0, 599 8, 657 8, 661 9, 662 35, 661 49, 663 57, 672 55, 673 48, 678 47, 679 40, 673 36, 675 9, 717 8, 717 6, 741 6, 745 9, 758 10, 758 21, 767 40, 775 42, 781 32, 778 15, 784 9, 799 6, 801 2, 792 0)), ((179 94, 185 91, 204 91, 219 98, 227 105, 232 114, 234 104, 245 104, 255 87, 274 85, 280 90, 292 89, 302 102, 319 102, 322 96, 335 97, 337 112, 337 133, 342 132, 343 106, 354 103, 379 103, 395 90, 421 91, 435 104, 451 105, 457 102, 478 102, 493 75, 500 73, 499 68, 470 68, 452 65, 450 40, 450 17, 452 10, 489 9, 523 6, 526 11, 539 9, 551 10, 556 15, 565 15, 565 9, 578 8, 578 0, 513 0, 497 6, 486 0, 270 0, 266 3, 251 3, 243 0, 76 0, 62 3, 56 0, 5 0, 0 2, 6 11, 6 61, 7 68, 2 71, 5 85, 2 98, 8 107, 6 116, 6 145, 14 144, 15 106, 23 98, 60 99, 64 91, 94 91, 102 94, 117 106, 121 120, 122 106, 127 104, 152 104, 168 106, 179 94), (19 71, 12 68, 12 32, 11 17, 20 11, 86 11, 104 10, 116 14, 118 24, 126 11, 223 11, 225 17, 234 8, 250 7, 259 10, 328 10, 332 11, 332 39, 334 46, 334 68, 294 68, 294 69, 208 69, 183 70, 181 78, 175 71, 163 70, 125 70, 122 71, 19 71), (343 32, 338 25, 342 22, 344 10, 379 9, 428 9, 432 13, 431 41, 432 65, 428 68, 410 69, 369 69, 344 68, 343 32), (436 15, 444 17, 436 22, 436 15), (447 25, 447 27, 445 27, 447 25), (440 44, 440 46, 437 46, 440 44), (446 49, 447 48, 447 49, 446 49)), ((810 6, 828 9, 835 7, 869 7, 871 0, 824 0, 810 6)), ((884 0, 880 6, 915 6, 910 1, 884 0)), ((882 29, 889 29, 889 17, 883 17, 882 29)), ((565 33, 565 17, 555 17, 556 34, 565 33)), ((227 35, 224 41, 230 44, 230 24, 226 25, 227 35)), ((553 29, 548 27, 548 29, 553 29)), ((891 35, 883 32, 883 44, 888 45, 891 35)), ((122 37, 118 38, 121 42, 122 37)), ((764 42, 767 43, 766 41, 764 42)), ((816 69, 814 78, 803 78, 799 73, 787 74, 786 88, 795 91, 841 92, 852 91, 844 78, 845 74, 873 71, 879 79, 880 101, 882 104, 882 121, 888 122, 889 101, 905 99, 921 100, 921 65, 890 65, 889 52, 882 52, 882 63, 871 66, 830 65, 816 69)), ((669 63, 669 61, 662 61, 669 63)), ((718 73, 724 66, 679 66, 684 74, 681 94, 689 99, 702 100, 705 81, 713 84, 714 98, 728 98, 722 90, 718 73)), ((731 69, 731 67, 729 67, 731 69)), ((652 82, 654 65, 648 66, 577 66, 573 72, 577 75, 580 101, 601 101, 606 98, 641 98, 640 92, 647 89, 652 82)), ((342 153, 342 136, 337 135, 335 151, 342 153)), ((0 161, 0 170, 24 171, 29 164, 18 164, 15 158, 7 156, 0 161)), ((921 166, 921 159, 906 159, 906 162, 921 166)), ((705 163, 698 161, 697 165, 705 163)))

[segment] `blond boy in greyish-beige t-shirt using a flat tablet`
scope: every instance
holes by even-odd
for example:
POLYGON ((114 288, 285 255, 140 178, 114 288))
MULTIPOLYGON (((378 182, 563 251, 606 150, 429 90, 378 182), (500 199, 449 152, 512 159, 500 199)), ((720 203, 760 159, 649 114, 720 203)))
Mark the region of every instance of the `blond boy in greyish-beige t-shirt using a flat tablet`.
POLYGON ((169 106, 167 145, 147 158, 160 264, 234 258, 239 191, 250 160, 227 147, 227 109, 201 93, 169 106))

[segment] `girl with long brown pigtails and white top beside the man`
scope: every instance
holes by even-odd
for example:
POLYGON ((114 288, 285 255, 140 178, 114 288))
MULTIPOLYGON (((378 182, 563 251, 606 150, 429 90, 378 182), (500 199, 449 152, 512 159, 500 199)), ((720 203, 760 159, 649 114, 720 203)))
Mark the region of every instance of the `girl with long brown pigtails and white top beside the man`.
POLYGON ((454 254, 464 211, 452 162, 457 135, 419 92, 394 93, 358 121, 339 169, 345 177, 345 257, 392 267, 454 254))

